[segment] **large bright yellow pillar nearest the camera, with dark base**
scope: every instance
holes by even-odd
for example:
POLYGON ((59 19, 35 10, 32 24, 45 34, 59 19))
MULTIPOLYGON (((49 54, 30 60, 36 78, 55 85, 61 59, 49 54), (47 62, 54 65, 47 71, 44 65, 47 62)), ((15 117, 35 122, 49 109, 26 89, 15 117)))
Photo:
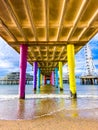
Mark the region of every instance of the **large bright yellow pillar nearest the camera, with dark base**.
POLYGON ((74 45, 67 45, 67 58, 68 58, 68 69, 69 69, 69 83, 70 93, 72 98, 76 98, 76 81, 75 81, 75 59, 74 59, 74 45))

